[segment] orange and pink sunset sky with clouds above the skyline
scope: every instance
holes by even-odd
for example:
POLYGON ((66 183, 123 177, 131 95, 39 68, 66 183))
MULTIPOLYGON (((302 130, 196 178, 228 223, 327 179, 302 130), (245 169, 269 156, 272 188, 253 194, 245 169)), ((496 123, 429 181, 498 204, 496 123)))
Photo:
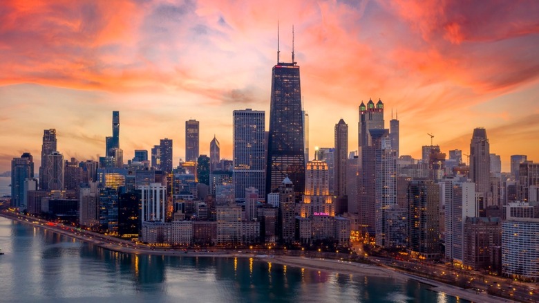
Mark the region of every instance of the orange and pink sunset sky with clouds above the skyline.
MULTIPOLYGON (((400 121, 400 154, 422 145, 469 154, 475 127, 491 153, 539 161, 539 1, 12 1, 0 7, 0 172, 23 152, 39 167, 44 129, 66 159, 104 155, 120 111, 124 160, 200 121, 232 155, 232 111, 266 112, 272 66, 301 66, 310 150, 334 146, 370 98, 400 121)), ((314 155, 312 155, 314 156, 314 155)), ((464 159, 466 160, 466 159, 464 159)))

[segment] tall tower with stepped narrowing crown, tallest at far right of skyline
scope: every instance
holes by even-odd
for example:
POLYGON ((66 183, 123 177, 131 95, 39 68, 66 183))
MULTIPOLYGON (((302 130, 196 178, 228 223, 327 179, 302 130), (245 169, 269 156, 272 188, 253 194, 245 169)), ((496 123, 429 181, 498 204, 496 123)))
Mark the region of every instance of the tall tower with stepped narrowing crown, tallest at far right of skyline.
MULTIPOLYGON (((486 138, 486 129, 473 130, 470 143, 470 177, 475 183, 475 192, 483 194, 488 200, 491 180, 491 156, 489 139, 486 138)), ((487 203, 487 205, 490 203, 487 203)))

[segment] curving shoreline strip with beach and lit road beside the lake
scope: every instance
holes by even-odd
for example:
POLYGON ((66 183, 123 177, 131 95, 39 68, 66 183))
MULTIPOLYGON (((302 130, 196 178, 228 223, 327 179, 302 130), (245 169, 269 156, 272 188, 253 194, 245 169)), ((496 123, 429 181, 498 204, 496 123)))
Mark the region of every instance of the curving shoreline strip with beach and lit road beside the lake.
MULTIPOLYGON (((58 226, 48 226, 42 223, 34 223, 35 221, 29 221, 29 219, 19 217, 15 214, 10 214, 6 212, 0 212, 0 217, 11 219, 13 221, 18 221, 20 223, 28 224, 29 226, 34 226, 37 228, 44 228, 44 230, 49 230, 55 232, 59 235, 64 235, 72 239, 77 239, 79 241, 93 244, 100 248, 111 250, 114 252, 122 252, 133 255, 160 255, 160 256, 169 256, 169 257, 240 257, 240 258, 253 258, 254 261, 263 261, 271 262, 274 264, 280 264, 283 266, 292 266, 296 268, 307 268, 309 270, 319 270, 329 273, 340 273, 346 275, 360 275, 366 277, 388 277, 392 279, 413 279, 422 284, 427 284, 431 286, 431 291, 437 293, 445 293, 446 295, 451 295, 458 299, 469 300, 471 302, 512 302, 505 300, 501 297, 495 297, 493 295, 487 295, 486 293, 475 293, 471 289, 464 289, 457 286, 452 286, 449 284, 444 284, 442 282, 437 282, 432 279, 426 279, 424 277, 418 277, 410 273, 404 273, 395 268, 386 268, 383 266, 376 266, 371 264, 361 264, 350 261, 341 261, 335 259, 325 259, 325 258, 310 258, 310 257, 296 257, 289 255, 262 255, 256 253, 238 253, 238 252, 193 252, 193 251, 182 251, 182 250, 163 250, 162 248, 154 250, 151 248, 132 248, 127 245, 132 244, 131 241, 126 241, 123 239, 118 239, 114 237, 109 237, 105 235, 98 234, 97 232, 89 232, 87 230, 81 230, 85 232, 86 235, 77 234, 73 229, 64 230, 58 226), (97 237, 97 238, 96 238, 97 237), (106 243, 107 241, 108 243, 106 243), (124 246, 125 245, 125 246, 124 246)), ((34 218, 30 218, 34 219, 34 218)), ((44 220, 43 220, 44 221, 44 220)), ((37 221, 39 222, 39 221, 37 221)))

